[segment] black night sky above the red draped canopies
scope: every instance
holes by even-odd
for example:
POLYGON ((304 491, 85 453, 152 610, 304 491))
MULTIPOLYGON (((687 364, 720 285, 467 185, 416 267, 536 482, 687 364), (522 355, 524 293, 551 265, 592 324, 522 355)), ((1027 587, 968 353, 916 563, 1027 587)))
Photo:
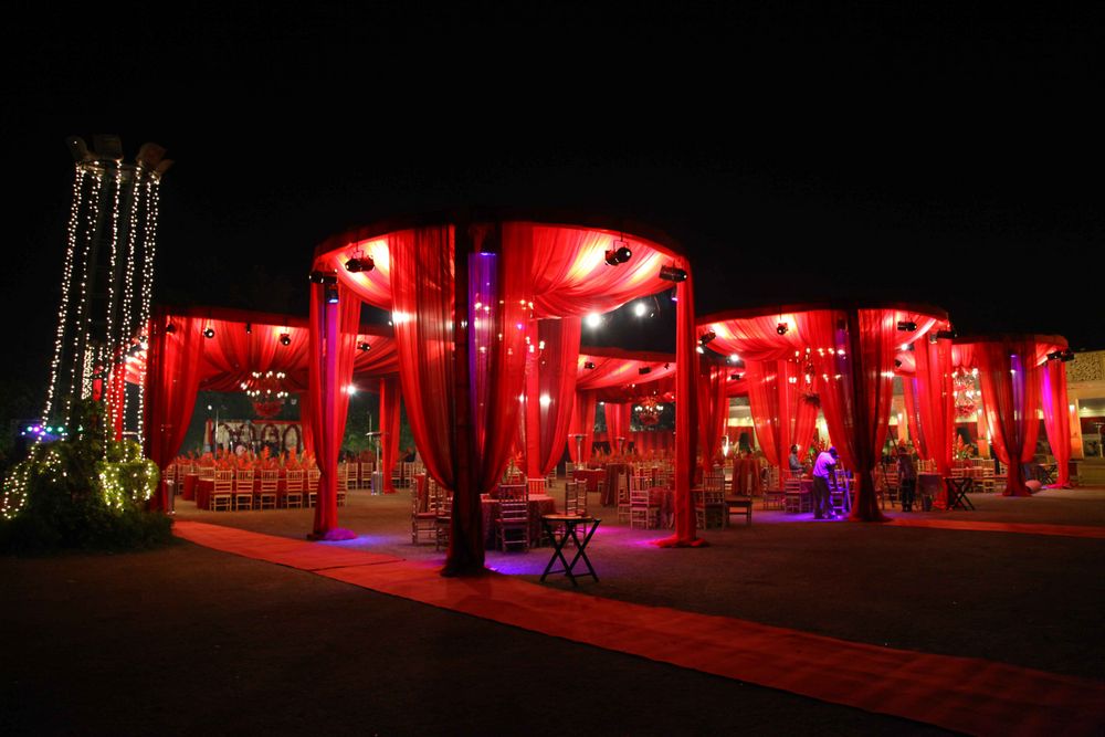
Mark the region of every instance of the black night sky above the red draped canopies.
MULTIPOLYGON (((327 236, 517 206, 669 233, 699 314, 914 301, 960 333, 1105 348, 1098 14, 178 4, 10 31, 0 278, 21 343, 4 379, 45 373, 64 140, 96 133, 175 160, 155 288, 172 304, 305 313, 327 236)), ((617 325, 588 339, 672 344, 670 319, 617 325)))

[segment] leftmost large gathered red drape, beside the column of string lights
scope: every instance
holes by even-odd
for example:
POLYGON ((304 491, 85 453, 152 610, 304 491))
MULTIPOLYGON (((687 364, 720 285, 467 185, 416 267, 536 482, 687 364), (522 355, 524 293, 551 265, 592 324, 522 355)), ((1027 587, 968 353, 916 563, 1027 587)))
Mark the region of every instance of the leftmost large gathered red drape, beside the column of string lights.
MULTIPOLYGON (((155 315, 149 326, 146 393, 146 450, 158 468, 180 451, 196 406, 203 326, 192 317, 155 315), (171 326, 171 331, 170 331, 171 326)), ((158 485, 150 508, 170 508, 165 483, 158 485)))

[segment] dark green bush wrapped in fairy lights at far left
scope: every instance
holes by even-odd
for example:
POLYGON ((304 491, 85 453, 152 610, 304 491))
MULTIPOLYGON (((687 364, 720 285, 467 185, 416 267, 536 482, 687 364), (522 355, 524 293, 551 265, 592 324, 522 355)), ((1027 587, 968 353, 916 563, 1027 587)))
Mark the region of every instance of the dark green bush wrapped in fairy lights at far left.
POLYGON ((33 446, 4 480, 0 550, 126 550, 172 539, 171 518, 146 510, 159 480, 156 464, 137 443, 105 444, 96 406, 88 404, 77 427, 92 430, 33 446))

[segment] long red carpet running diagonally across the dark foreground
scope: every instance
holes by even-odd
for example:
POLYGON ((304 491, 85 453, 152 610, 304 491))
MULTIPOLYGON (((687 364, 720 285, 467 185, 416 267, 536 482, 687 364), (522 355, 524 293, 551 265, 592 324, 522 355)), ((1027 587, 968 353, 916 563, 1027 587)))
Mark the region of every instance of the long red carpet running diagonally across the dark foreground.
POLYGON ((446 579, 427 564, 217 525, 177 520, 173 531, 524 630, 947 729, 1065 736, 1105 727, 1105 683, 1097 681, 581 596, 509 576, 446 579))

